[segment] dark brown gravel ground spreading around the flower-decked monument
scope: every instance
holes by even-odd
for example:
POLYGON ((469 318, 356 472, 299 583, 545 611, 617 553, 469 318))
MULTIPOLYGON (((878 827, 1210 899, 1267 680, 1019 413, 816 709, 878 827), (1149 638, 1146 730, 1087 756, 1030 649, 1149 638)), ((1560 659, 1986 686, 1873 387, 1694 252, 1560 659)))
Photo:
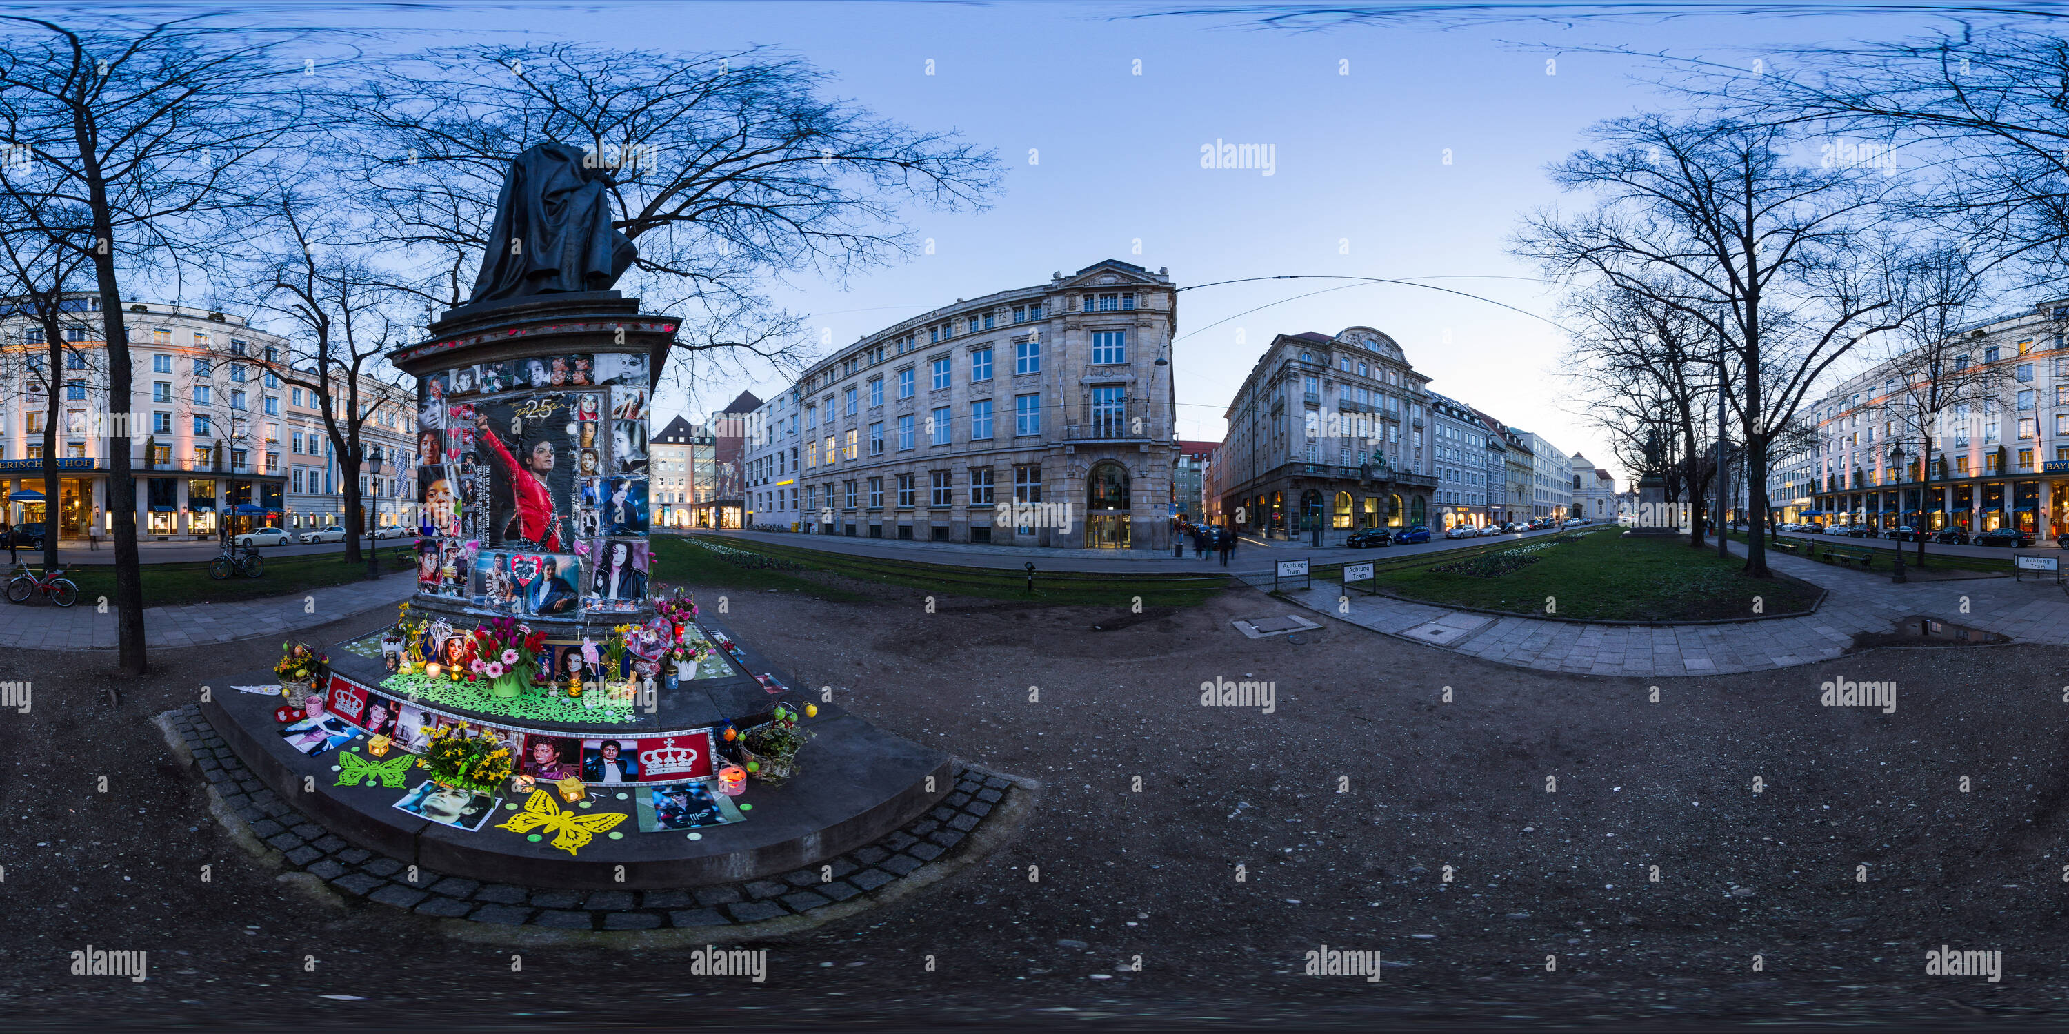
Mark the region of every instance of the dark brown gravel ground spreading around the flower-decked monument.
POLYGON ((2003 1026, 2061 1009, 2063 649, 1877 649, 1661 680, 1653 703, 1651 682, 1335 622, 1246 639, 1231 620, 1295 610, 1250 589, 1146 614, 950 596, 929 614, 921 594, 871 591, 734 594, 728 614, 699 600, 801 685, 1039 780, 1041 800, 1018 840, 925 893, 755 945, 761 984, 691 976, 685 951, 453 941, 275 881, 149 724, 275 643, 159 651, 116 711, 106 656, 0 658, 0 680, 35 687, 31 713, 0 713, 0 1009, 19 1028, 2003 1026), (1202 707, 1219 678, 1272 682, 1272 711, 1202 707), (1897 682, 1895 713, 1823 707, 1835 678, 1897 682), (149 980, 70 976, 89 945, 147 949, 149 980), (1303 976, 1322 945, 1380 951, 1384 976, 1303 976), (1926 976, 1941 945, 2003 951, 2001 982, 1926 976))

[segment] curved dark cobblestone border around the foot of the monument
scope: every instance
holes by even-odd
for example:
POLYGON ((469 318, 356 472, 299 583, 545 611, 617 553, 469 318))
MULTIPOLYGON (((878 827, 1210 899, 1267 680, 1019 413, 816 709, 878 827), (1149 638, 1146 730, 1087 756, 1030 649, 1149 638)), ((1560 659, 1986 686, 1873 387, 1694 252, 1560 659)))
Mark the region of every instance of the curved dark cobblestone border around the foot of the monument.
MULTIPOLYGON (((660 931, 724 929, 813 912, 850 900, 881 900, 904 883, 931 883, 946 862, 968 848, 970 833, 1008 802, 1026 794, 1022 782, 958 763, 952 792, 912 825, 875 844, 782 877, 672 891, 559 891, 509 883, 482 883, 418 869, 416 881, 401 862, 356 848, 302 815, 269 790, 215 732, 201 705, 157 716, 166 740, 184 753, 209 784, 219 817, 236 815, 263 850, 275 852, 286 869, 314 875, 346 902, 379 902, 428 918, 459 918, 503 926, 544 926, 557 931, 660 931)), ((232 829, 236 833, 238 829, 232 829)), ((991 829, 987 829, 991 833, 991 829)), ((242 838, 240 838, 242 840, 242 838)), ((848 912, 848 910, 840 910, 848 912)))

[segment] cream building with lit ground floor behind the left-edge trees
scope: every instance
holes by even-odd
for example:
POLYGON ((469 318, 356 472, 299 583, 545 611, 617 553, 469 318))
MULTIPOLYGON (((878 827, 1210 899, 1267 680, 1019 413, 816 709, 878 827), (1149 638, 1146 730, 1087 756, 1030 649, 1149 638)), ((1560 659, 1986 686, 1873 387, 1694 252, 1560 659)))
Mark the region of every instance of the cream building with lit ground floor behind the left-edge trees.
MULTIPOLYGON (((217 529, 321 527, 343 519, 341 467, 317 397, 286 385, 273 368, 286 341, 226 312, 132 302, 132 395, 108 397, 108 347, 99 296, 62 300, 64 370, 60 414, 43 393, 48 343, 21 306, 0 306, 0 498, 6 519, 37 523, 54 515, 60 538, 110 534, 108 498, 114 428, 130 436, 141 538, 213 538, 217 529), (60 488, 41 498, 43 422, 58 422, 60 488), (54 511, 54 513, 50 513, 54 511), (257 513, 254 513, 257 511, 257 513)), ((414 527, 416 409, 393 387, 368 376, 362 438, 383 457, 383 476, 366 484, 381 523, 414 527)))

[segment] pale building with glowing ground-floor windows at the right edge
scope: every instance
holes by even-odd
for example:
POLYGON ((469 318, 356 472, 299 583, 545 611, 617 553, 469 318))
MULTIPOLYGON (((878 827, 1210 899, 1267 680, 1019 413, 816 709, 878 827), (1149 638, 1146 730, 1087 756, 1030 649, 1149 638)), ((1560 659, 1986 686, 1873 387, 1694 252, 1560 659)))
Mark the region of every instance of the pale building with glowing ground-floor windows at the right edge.
POLYGON ((1810 492, 1802 463, 1781 457, 1779 492, 1769 482, 1775 519, 1959 527, 2055 538, 2069 529, 2069 347, 2063 329, 2069 300, 1963 331, 1955 366, 1984 381, 1972 399, 1920 430, 1901 399, 1897 360, 1864 370, 1819 399, 1810 492), (1920 469, 1930 432, 1932 459, 1920 469), (1777 503, 1777 500, 1788 503, 1777 503), (1808 498, 1806 509, 1796 509, 1808 498))

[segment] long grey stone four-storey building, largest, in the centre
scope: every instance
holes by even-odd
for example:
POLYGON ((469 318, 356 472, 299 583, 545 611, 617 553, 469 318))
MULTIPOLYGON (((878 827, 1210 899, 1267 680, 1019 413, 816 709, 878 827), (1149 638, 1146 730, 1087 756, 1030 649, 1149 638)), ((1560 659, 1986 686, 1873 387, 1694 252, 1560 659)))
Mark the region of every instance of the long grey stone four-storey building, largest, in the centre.
POLYGON ((749 505, 815 534, 1169 548, 1175 302, 1109 258, 865 335, 759 409, 749 505))

